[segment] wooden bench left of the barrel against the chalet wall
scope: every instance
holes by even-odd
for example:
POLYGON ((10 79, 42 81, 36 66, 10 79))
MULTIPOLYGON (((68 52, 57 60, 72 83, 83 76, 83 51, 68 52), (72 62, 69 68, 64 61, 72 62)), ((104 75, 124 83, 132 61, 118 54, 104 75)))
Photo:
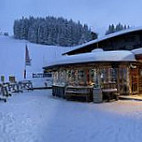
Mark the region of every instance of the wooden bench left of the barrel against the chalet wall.
POLYGON ((90 86, 67 86, 65 89, 65 98, 67 100, 80 100, 91 101, 93 87, 90 86))

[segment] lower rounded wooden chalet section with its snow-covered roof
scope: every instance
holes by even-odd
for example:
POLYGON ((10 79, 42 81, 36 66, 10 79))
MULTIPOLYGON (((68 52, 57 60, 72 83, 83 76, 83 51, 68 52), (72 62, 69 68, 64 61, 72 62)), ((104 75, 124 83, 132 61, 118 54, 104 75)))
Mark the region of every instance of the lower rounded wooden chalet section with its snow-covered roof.
POLYGON ((94 88, 119 95, 141 93, 141 59, 142 55, 126 50, 94 50, 63 56, 44 69, 53 72, 53 95, 80 96, 92 101, 94 88))

